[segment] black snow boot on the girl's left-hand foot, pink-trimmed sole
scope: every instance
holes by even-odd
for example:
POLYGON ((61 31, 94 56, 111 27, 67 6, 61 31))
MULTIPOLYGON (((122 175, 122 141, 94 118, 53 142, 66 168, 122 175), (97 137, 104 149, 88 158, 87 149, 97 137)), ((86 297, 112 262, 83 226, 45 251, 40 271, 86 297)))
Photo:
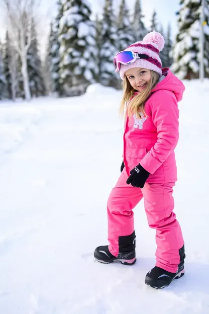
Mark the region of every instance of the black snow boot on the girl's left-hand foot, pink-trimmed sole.
POLYGON ((97 247, 94 251, 94 258, 97 262, 109 264, 112 262, 121 262, 124 265, 133 265, 136 263, 136 236, 135 232, 130 236, 119 237, 119 254, 114 256, 110 253, 108 246, 97 247))

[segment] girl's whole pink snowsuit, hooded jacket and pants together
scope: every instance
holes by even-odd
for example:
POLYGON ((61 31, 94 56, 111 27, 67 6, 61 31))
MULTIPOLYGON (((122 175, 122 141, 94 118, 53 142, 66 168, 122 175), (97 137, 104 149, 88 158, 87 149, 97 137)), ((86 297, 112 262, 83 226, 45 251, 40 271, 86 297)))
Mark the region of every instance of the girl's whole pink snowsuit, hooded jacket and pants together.
POLYGON ((151 228, 156 229, 156 266, 176 272, 179 250, 184 241, 173 212, 173 186, 177 181, 174 148, 178 142, 177 102, 182 99, 184 85, 168 69, 163 80, 152 90, 145 104, 147 117, 125 119, 125 168, 108 199, 109 250, 118 256, 120 237, 134 232, 134 207, 144 197, 151 228), (127 185, 130 171, 140 163, 150 176, 143 189, 127 185))

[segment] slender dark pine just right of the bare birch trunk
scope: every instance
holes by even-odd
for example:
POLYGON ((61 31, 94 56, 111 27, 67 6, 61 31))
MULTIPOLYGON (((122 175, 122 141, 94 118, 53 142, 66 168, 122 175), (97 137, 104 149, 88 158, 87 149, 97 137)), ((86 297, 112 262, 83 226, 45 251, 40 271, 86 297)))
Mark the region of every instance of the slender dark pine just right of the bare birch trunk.
POLYGON ((39 56, 38 40, 36 25, 32 19, 31 26, 31 45, 28 49, 27 55, 29 86, 32 97, 39 97, 45 95, 45 84, 43 80, 43 68, 39 56))

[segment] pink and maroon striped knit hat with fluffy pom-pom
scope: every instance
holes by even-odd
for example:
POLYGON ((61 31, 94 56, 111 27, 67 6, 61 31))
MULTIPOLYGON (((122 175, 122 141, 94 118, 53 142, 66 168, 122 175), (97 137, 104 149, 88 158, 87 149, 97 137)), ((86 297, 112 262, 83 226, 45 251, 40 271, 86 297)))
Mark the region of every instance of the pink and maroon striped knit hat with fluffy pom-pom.
POLYGON ((153 70, 162 76, 162 62, 159 57, 159 52, 163 49, 165 44, 163 36, 158 32, 148 33, 142 41, 137 41, 126 50, 131 50, 136 53, 146 54, 149 59, 136 59, 131 64, 121 64, 120 75, 122 80, 125 78, 125 72, 130 68, 141 67, 153 70))

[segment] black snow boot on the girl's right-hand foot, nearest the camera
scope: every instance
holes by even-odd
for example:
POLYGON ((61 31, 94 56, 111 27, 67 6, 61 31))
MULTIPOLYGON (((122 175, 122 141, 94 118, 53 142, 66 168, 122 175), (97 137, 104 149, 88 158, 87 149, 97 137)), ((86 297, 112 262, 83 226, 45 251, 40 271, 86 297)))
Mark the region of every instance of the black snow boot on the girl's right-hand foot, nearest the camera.
POLYGON ((168 272, 160 267, 155 266, 145 278, 145 283, 155 289, 167 287, 174 279, 181 278, 184 275, 184 246, 179 250, 180 264, 176 273, 168 272))

